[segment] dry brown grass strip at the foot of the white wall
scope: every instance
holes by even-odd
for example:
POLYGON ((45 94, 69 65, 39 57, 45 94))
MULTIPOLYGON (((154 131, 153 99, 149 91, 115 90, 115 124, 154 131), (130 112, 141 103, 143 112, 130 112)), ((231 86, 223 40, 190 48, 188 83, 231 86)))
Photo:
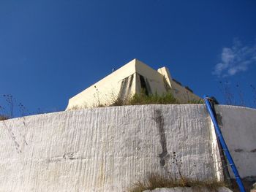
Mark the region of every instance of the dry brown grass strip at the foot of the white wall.
POLYGON ((209 190, 216 190, 219 187, 226 186, 223 182, 216 180, 190 180, 182 177, 181 179, 172 179, 163 177, 159 174, 150 174, 144 181, 138 181, 129 188, 129 192, 142 192, 146 190, 153 190, 155 188, 176 188, 176 187, 197 187, 208 188, 209 190))

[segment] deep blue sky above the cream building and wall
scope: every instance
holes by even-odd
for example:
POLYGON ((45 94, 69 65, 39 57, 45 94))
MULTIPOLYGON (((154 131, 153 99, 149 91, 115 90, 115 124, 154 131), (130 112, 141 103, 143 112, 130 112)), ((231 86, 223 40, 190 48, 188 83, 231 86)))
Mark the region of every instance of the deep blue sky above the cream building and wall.
POLYGON ((2 0, 0 95, 31 113, 64 110, 70 97, 138 58, 167 66, 199 96, 225 104, 226 90, 236 104, 256 107, 255 10, 253 0, 2 0))

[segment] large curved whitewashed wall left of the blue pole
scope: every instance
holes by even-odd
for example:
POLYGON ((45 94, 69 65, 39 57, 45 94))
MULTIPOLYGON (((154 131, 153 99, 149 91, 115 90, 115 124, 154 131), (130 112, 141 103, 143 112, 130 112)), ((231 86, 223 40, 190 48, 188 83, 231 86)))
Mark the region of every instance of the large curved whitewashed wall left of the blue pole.
POLYGON ((208 180, 222 173, 211 133, 200 104, 1 121, 0 191, 127 191, 148 173, 179 177, 178 169, 184 177, 208 180))

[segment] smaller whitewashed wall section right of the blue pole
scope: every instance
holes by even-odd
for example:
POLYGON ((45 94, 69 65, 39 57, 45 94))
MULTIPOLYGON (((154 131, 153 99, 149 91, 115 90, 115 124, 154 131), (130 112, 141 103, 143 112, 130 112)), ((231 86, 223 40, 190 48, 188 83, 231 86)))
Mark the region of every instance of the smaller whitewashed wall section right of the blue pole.
MULTIPOLYGON (((226 105, 219 105, 216 110, 240 176, 256 176, 256 110, 226 105)), ((234 177, 231 169, 230 173, 234 177)))

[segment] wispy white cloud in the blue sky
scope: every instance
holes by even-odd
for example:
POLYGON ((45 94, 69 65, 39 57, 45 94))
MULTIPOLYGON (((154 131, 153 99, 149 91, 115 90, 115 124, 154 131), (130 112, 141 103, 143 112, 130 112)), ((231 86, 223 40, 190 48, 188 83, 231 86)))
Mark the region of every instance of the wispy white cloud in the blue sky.
POLYGON ((256 64, 256 44, 244 46, 235 39, 232 47, 222 49, 221 61, 212 74, 219 77, 232 76, 238 72, 246 72, 250 64, 256 64))

